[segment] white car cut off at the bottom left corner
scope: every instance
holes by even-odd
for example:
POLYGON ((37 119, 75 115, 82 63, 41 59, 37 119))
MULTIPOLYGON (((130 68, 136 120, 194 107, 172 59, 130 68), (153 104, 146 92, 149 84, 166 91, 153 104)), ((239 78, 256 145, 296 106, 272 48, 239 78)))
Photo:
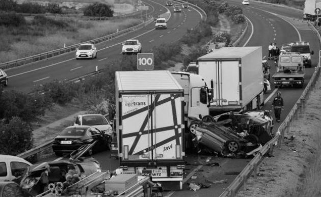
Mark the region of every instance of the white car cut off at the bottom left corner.
POLYGON ((0 181, 13 181, 23 175, 32 164, 29 161, 12 155, 0 155, 0 181))

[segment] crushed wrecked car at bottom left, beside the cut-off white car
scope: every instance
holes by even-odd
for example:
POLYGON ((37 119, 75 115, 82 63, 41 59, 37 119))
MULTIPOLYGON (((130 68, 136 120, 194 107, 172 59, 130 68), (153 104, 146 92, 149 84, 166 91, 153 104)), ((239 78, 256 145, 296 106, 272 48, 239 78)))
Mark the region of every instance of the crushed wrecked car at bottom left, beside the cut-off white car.
POLYGON ((28 191, 32 196, 43 192, 43 185, 40 183, 40 177, 45 171, 48 171, 48 183, 65 183, 67 173, 72 170, 77 177, 83 179, 95 172, 101 172, 99 162, 90 157, 81 157, 90 150, 96 143, 84 145, 81 148, 73 151, 69 160, 55 160, 44 162, 39 165, 33 165, 28 168, 28 171, 23 175, 20 182, 22 189, 28 191))

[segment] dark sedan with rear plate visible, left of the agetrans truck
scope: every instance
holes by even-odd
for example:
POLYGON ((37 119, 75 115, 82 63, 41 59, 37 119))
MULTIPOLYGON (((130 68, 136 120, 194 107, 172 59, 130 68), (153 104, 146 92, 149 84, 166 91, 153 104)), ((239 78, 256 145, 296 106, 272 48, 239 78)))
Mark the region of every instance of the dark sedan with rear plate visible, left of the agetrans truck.
POLYGON ((70 126, 65 128, 52 143, 52 150, 57 156, 72 152, 79 147, 97 141, 89 151, 92 155, 95 151, 109 149, 111 135, 106 134, 93 126, 70 126))

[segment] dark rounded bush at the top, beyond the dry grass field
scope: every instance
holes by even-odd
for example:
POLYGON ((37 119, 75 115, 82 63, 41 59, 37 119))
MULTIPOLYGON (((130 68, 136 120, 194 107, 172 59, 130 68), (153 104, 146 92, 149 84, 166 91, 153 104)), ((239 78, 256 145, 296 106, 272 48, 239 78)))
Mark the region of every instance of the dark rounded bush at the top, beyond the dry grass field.
POLYGON ((102 3, 94 3, 85 8, 84 16, 113 16, 114 11, 109 5, 102 3))

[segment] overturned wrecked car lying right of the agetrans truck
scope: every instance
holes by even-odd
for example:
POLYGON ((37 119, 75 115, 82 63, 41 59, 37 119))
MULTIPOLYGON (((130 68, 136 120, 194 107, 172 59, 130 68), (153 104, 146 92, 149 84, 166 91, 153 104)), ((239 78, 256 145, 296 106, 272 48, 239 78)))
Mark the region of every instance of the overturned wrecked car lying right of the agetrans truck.
POLYGON ((227 112, 194 119, 190 131, 198 152, 247 157, 254 156, 273 138, 273 126, 269 110, 227 112))

